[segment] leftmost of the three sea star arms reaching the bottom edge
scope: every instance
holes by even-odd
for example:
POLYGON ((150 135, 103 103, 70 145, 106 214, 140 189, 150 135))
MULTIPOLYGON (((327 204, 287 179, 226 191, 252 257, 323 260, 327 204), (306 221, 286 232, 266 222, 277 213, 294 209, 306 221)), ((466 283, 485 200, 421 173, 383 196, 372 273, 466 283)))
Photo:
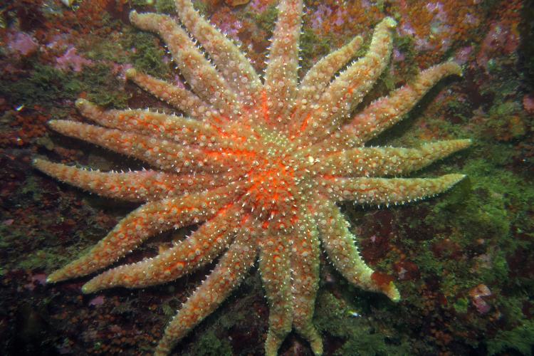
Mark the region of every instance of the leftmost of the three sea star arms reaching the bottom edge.
POLYGON ((201 322, 225 300, 231 291, 243 281, 246 271, 256 259, 256 231, 251 224, 245 224, 221 257, 214 271, 194 291, 177 315, 171 320, 155 355, 168 355, 178 340, 201 322))

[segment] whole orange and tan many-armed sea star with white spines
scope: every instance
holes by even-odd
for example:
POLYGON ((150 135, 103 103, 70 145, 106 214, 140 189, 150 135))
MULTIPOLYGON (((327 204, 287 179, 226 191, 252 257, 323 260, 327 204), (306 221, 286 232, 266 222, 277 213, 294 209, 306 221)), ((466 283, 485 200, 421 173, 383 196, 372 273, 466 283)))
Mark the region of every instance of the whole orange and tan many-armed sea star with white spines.
POLYGON ((100 271, 159 231, 201 223, 154 258, 100 273, 83 292, 165 283, 222 255, 167 326, 156 349, 165 355, 239 285, 258 258, 270 305, 266 354, 276 355, 294 328, 320 355, 323 345, 312 318, 321 247, 351 283, 400 298, 394 284, 377 278, 362 260, 335 202, 402 204, 444 192, 464 177, 399 178, 467 147, 469 140, 409 149, 364 145, 401 120, 438 80, 459 75, 460 68, 449 62, 424 70, 412 83, 353 112, 387 66, 393 19, 377 24, 364 57, 349 63, 362 43, 357 37, 315 64, 299 83, 302 0, 279 5, 263 80, 191 1, 177 0, 176 7, 183 27, 161 14, 132 11, 130 20, 159 33, 190 89, 133 69, 127 77, 186 116, 102 110, 80 99, 78 110, 97 125, 50 122, 64 135, 141 159, 154 169, 99 172, 35 160, 35 167, 63 182, 143 202, 48 281, 100 271))

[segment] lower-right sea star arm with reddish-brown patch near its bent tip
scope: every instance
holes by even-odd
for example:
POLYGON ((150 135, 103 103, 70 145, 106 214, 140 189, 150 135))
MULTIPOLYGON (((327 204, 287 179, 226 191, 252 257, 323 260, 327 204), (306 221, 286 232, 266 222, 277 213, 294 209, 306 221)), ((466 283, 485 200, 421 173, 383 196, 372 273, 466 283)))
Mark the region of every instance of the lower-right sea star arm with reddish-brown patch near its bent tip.
POLYGON ((320 240, 337 271, 355 286, 382 292, 389 299, 398 301, 400 294, 393 282, 382 283, 373 278, 375 272, 362 260, 355 245, 355 236, 348 229, 339 208, 332 201, 319 197, 314 209, 320 240))

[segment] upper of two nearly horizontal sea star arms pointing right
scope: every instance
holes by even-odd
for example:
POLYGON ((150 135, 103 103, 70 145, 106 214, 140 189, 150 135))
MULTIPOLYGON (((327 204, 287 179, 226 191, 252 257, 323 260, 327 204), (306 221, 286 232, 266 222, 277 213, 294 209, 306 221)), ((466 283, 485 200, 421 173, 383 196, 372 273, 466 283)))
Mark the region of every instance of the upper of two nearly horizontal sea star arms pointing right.
POLYGON ((463 150, 471 140, 426 143, 418 148, 358 147, 318 158, 318 172, 337 177, 408 174, 463 150))

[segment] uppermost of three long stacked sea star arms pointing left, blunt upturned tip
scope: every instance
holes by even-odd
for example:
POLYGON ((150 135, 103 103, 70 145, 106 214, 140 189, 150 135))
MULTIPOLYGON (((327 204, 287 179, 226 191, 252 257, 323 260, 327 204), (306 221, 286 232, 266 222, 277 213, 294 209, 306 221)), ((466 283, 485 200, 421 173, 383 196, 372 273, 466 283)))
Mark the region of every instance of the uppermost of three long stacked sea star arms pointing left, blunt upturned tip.
POLYGON ((182 145, 216 145, 218 132, 207 122, 149 110, 103 110, 85 99, 76 100, 80 113, 105 127, 173 140, 182 145))

